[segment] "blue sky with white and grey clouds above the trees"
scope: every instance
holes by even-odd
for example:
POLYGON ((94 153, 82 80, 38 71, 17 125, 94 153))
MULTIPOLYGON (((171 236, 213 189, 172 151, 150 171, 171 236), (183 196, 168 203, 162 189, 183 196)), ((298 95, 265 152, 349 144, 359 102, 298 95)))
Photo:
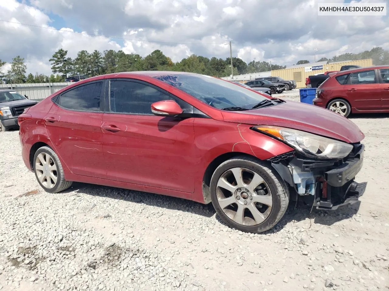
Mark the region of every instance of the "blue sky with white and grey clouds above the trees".
MULTIPOLYGON (((389 50, 388 16, 317 16, 326 2, 350 0, 0 0, 2 71, 20 55, 27 73, 51 74, 49 59, 61 48, 72 58, 80 50, 145 57, 159 49, 177 62, 191 54, 226 59, 231 41, 233 57, 280 65, 313 62, 314 49, 316 59, 389 50)), ((389 9, 389 0, 351 2, 389 9)))

